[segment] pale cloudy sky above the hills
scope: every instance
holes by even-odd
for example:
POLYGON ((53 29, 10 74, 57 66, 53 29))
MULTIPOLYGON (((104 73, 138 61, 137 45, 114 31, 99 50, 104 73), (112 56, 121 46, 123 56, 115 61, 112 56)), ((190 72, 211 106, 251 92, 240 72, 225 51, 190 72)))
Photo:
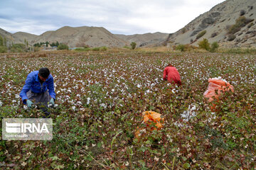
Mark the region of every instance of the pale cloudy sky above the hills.
POLYGON ((225 0, 0 0, 0 28, 41 35, 63 26, 114 34, 175 33, 225 0))

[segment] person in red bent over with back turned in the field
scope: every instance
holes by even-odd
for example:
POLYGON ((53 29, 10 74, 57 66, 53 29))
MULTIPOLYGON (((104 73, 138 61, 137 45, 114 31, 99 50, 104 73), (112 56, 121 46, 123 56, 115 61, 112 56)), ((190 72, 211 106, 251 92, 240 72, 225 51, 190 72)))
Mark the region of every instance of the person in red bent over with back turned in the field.
POLYGON ((178 73, 178 70, 171 64, 168 64, 168 66, 164 69, 163 79, 168 80, 171 84, 181 86, 181 76, 178 73))

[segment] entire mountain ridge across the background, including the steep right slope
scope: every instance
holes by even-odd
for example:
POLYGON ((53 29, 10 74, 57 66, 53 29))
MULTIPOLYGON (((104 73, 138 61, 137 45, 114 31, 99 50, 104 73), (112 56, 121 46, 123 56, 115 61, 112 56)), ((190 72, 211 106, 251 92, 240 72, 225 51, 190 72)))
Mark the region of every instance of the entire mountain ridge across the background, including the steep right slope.
POLYGON ((63 42, 70 47, 123 47, 136 42, 137 47, 154 47, 178 44, 198 46, 206 38, 210 43, 218 42, 223 47, 256 47, 256 1, 226 0, 213 6, 206 13, 190 21, 175 33, 144 33, 134 35, 112 34, 104 27, 70 27, 48 30, 41 35, 17 32, 11 34, 0 28, 0 35, 14 43, 30 45, 37 42, 63 42), (244 22, 235 32, 230 29, 238 22, 244 22), (203 32, 203 33, 202 33, 203 32), (201 35, 200 35, 201 34, 201 35))

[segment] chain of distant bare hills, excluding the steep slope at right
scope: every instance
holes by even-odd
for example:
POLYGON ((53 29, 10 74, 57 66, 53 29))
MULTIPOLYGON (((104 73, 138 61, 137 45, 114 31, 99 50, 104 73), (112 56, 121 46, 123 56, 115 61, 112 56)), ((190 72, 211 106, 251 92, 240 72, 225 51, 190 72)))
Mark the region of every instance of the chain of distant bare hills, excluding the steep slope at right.
POLYGON ((131 42, 136 42, 137 47, 148 47, 162 42, 168 38, 168 33, 146 33, 135 35, 114 35, 102 27, 69 27, 65 26, 58 30, 46 31, 41 35, 30 33, 8 33, 0 29, 0 35, 6 37, 9 43, 24 43, 26 39, 29 45, 38 42, 62 42, 69 47, 80 47, 88 45, 90 47, 124 47, 129 46, 131 42))

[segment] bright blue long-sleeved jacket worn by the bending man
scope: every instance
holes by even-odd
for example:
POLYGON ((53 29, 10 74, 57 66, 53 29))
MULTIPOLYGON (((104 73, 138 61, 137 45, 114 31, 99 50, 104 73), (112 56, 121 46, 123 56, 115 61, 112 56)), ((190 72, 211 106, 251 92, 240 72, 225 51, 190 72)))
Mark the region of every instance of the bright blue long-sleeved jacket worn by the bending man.
POLYGON ((23 103, 26 104, 26 99, 28 99, 28 96, 26 96, 26 93, 31 90, 35 94, 41 94, 45 91, 49 92, 49 95, 51 98, 55 99, 55 91, 54 91, 54 85, 53 85, 53 77, 52 75, 49 75, 48 79, 43 82, 43 84, 40 83, 39 77, 38 77, 39 71, 34 71, 28 74, 28 77, 26 78, 25 85, 23 86, 20 96, 23 101, 23 103))

